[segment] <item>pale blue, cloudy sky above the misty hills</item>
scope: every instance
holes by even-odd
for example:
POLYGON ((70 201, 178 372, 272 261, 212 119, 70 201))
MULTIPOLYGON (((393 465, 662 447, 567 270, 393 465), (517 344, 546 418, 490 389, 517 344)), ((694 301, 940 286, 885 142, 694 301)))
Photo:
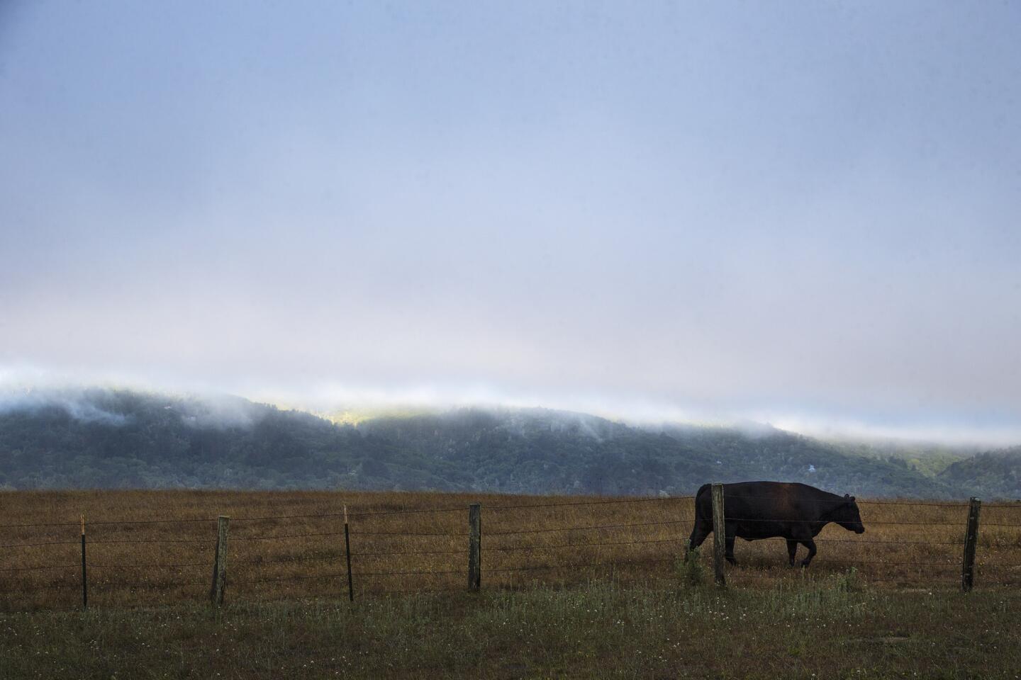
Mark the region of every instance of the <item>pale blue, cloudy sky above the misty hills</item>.
POLYGON ((0 0, 0 383, 1019 443, 1019 30, 0 0))

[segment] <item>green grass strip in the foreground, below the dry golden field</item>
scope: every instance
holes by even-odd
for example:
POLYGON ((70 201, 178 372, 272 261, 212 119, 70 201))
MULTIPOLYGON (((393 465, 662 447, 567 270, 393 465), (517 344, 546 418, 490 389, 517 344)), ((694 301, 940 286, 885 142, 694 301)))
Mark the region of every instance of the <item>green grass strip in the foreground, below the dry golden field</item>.
POLYGON ((1021 592, 535 587, 0 614, 0 678, 1014 678, 1021 592))

